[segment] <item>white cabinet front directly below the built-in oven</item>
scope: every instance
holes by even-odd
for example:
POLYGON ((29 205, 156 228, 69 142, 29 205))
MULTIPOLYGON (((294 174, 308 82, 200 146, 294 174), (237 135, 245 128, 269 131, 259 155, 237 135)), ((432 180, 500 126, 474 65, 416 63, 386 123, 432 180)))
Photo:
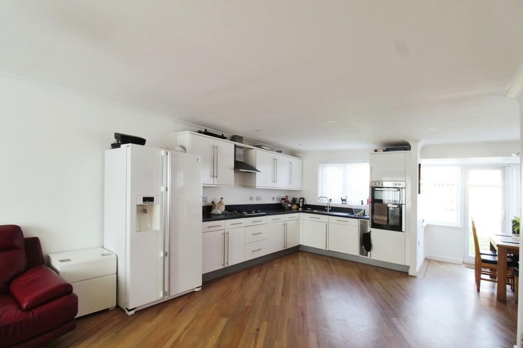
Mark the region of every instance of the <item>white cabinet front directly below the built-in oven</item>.
POLYGON ((372 228, 371 258, 374 260, 405 264, 405 233, 372 228))

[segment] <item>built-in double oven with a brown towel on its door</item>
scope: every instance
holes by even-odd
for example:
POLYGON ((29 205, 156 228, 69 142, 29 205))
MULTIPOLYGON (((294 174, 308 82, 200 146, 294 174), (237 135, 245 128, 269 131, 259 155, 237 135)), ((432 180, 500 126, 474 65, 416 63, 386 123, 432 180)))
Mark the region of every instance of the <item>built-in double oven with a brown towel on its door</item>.
POLYGON ((370 227, 405 231, 405 181, 370 182, 370 227))

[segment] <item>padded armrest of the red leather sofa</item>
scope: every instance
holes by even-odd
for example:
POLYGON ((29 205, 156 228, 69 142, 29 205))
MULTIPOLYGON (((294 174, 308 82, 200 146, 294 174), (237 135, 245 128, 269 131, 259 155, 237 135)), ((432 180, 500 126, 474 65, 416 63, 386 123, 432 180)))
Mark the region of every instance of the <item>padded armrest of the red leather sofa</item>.
POLYGON ((71 294, 73 286, 42 264, 16 277, 9 285, 9 292, 22 310, 28 310, 71 294))

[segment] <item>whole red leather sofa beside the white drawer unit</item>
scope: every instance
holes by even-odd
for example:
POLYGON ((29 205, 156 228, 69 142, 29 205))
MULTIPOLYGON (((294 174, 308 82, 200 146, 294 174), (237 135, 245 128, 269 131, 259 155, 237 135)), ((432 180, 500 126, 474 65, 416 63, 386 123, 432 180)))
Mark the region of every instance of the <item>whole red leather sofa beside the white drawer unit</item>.
POLYGON ((40 240, 0 226, 0 347, 39 347, 75 328, 73 286, 43 264, 40 240))

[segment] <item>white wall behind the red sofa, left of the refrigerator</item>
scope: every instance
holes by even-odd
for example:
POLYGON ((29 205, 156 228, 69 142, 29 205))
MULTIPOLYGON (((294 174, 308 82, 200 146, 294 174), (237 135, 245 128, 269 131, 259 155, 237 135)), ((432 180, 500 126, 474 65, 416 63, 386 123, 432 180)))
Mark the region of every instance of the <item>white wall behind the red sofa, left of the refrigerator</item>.
POLYGON ((0 74, 0 224, 44 253, 103 245, 104 150, 113 133, 176 145, 185 123, 0 74))

